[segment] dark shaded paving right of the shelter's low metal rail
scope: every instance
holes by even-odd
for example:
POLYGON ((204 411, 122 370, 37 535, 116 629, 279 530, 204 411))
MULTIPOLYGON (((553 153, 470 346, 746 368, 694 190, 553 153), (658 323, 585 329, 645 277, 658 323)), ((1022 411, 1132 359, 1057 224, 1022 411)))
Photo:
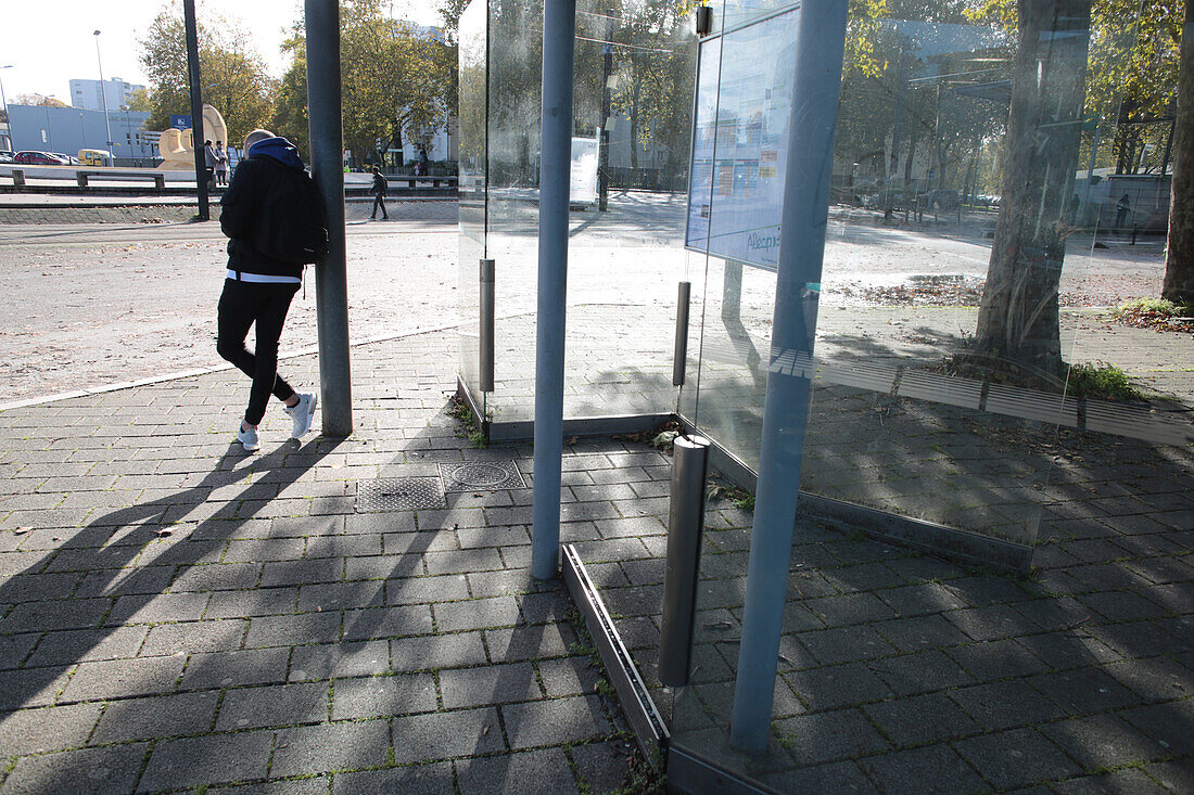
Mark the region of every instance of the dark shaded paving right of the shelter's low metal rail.
MULTIPOLYGON (((673 745, 782 791, 886 791, 907 785, 909 765, 916 788, 935 791, 1153 779, 1181 789, 1194 754, 1189 532, 1182 547, 1171 531, 1113 526, 1106 503, 1091 507, 1090 537, 1030 578, 798 522, 771 741, 747 757, 730 748, 728 716, 751 517, 712 501, 693 684, 676 694, 673 745), (1033 760, 1009 765, 1014 752, 1033 760), (1141 777, 1119 778, 1128 774, 1141 777)), ((592 554, 607 561, 602 593, 617 610, 663 581, 661 557, 592 554)), ((616 620, 657 692, 658 620, 658 608, 616 620)))

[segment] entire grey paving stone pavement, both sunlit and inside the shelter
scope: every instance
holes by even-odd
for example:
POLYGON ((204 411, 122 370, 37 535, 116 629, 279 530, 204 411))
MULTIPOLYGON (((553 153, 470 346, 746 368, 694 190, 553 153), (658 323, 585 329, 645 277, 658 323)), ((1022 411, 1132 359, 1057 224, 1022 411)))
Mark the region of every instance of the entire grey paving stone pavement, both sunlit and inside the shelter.
MULTIPOLYGON (((0 413, 0 794, 622 785, 590 641, 529 578, 531 450, 457 435, 456 346, 355 347, 352 437, 285 440, 273 407, 257 455, 230 443, 233 372, 0 413), (487 461, 525 487, 357 510, 362 482, 487 461)), ((318 362, 285 369, 310 384, 318 362)), ((747 762, 725 725, 750 514, 709 507, 694 685, 671 694, 670 460, 576 439, 564 469, 562 540, 678 744, 780 791, 1194 790, 1194 499, 1157 476, 1149 516, 1126 494, 1051 511, 1027 578, 802 522, 773 742, 747 762)))

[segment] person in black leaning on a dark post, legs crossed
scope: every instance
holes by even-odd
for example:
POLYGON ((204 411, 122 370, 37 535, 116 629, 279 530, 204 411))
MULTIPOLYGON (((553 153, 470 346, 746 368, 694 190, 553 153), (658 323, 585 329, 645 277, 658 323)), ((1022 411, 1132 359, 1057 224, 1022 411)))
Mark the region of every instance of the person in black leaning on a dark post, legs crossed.
MULTIPOLYGON (((303 171, 298 150, 283 137, 247 141, 246 154, 220 199, 220 228, 229 240, 216 350, 253 380, 248 408, 236 431, 236 440, 246 451, 253 451, 260 448, 257 427, 265 417, 271 393, 285 403, 293 420, 290 436, 295 439, 310 430, 319 399, 315 394, 300 395, 277 374, 278 340, 290 301, 302 284, 303 266, 263 251, 263 246, 269 246, 263 241, 289 233, 281 228, 289 218, 287 208, 279 203, 294 202, 302 195, 296 189, 303 187, 296 180, 310 178, 303 171), (276 228, 269 228, 270 224, 276 228), (257 326, 257 344, 250 353, 245 338, 252 325, 257 326)), ((301 215, 301 208, 290 209, 290 215, 301 215)))

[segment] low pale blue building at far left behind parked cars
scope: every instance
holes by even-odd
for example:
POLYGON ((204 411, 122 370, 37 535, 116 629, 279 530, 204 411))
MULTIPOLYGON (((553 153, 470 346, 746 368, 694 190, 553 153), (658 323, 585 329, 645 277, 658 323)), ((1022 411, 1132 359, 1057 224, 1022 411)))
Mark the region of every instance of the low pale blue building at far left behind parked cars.
POLYGON ((17 152, 60 152, 78 155, 79 149, 106 149, 118 166, 153 166, 158 156, 156 136, 148 135, 144 123, 149 113, 117 111, 109 113, 112 146, 103 111, 43 105, 8 105, 12 121, 12 148, 17 152))

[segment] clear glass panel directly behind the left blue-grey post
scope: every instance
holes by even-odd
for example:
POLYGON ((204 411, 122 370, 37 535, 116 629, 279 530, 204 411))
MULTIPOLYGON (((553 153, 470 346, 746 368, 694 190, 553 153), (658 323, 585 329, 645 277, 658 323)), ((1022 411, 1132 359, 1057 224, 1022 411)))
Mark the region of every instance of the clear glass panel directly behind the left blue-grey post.
MULTIPOLYGON (((676 277, 685 260, 690 29, 689 18, 663 0, 621 11, 585 0, 578 10, 565 357, 570 419, 675 407, 670 376, 676 277)), ((486 408, 494 423, 534 419, 541 45, 541 7, 490 4, 485 248, 497 270, 497 333, 496 389, 486 408)), ((462 103, 463 92, 462 86, 462 103)), ((462 259, 461 267, 462 286, 475 282, 473 265, 462 259)))

